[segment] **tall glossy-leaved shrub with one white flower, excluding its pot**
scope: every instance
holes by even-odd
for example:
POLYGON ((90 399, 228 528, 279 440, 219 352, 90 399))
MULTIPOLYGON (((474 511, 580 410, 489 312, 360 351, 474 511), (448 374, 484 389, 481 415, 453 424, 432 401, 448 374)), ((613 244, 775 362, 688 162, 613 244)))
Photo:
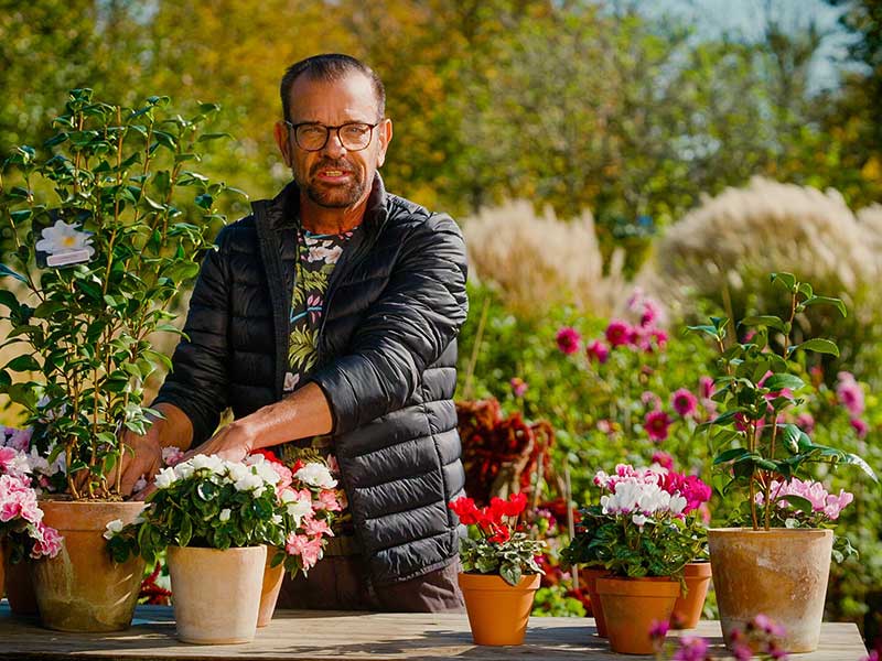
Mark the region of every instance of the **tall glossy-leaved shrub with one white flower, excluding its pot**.
POLYGON ((17 147, 0 172, 0 318, 12 327, 2 346, 19 349, 0 393, 24 409, 47 462, 64 457, 75 498, 119 498, 122 434, 158 415, 142 404, 144 382, 170 367, 151 336, 179 333, 170 306, 223 220, 226 186, 191 169, 220 137, 203 132, 218 107, 184 118, 168 106, 121 108, 75 89, 43 150, 17 147))

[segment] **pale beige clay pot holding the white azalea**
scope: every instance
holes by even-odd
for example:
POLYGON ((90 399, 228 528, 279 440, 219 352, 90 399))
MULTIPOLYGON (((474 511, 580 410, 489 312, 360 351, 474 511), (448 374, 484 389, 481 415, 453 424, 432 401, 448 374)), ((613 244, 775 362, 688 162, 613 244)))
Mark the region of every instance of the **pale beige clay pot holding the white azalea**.
POLYGON ((169 546, 166 561, 179 639, 198 644, 254 640, 266 546, 169 546))

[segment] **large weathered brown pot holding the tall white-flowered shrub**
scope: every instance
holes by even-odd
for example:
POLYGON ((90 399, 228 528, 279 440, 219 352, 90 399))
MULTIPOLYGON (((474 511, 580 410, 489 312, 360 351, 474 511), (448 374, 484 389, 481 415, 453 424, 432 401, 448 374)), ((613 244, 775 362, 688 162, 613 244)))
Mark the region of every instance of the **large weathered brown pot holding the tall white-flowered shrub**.
POLYGON ((141 557, 117 564, 104 539, 107 523, 131 523, 143 502, 43 500, 43 521, 63 537, 55 557, 33 561, 36 604, 43 626, 58 631, 121 631, 129 628, 144 573, 141 557))

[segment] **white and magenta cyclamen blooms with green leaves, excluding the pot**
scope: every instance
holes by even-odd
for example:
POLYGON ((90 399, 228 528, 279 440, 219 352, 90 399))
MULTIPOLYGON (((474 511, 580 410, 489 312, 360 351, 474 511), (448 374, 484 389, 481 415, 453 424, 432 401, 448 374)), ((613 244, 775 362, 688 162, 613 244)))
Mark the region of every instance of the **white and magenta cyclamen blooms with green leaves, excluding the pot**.
POLYGON ((564 560, 600 566, 613 575, 681 577, 687 563, 707 557, 697 510, 710 487, 696 476, 620 464, 600 470, 600 505, 580 510, 581 520, 564 560))

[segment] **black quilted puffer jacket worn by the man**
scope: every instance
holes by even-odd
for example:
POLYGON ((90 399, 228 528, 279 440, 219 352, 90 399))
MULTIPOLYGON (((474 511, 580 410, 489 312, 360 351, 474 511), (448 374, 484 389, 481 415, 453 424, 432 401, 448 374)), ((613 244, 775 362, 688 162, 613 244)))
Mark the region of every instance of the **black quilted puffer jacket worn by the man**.
MULTIPOLYGON (((282 398, 297 257, 290 184, 224 228, 200 272, 173 371, 158 402, 181 408, 194 446, 219 413, 282 398)), ((464 474, 453 390, 465 319, 465 249, 449 216, 389 195, 377 175, 363 221, 331 275, 311 380, 330 402, 336 457, 376 585, 450 563, 447 503, 464 474)))

